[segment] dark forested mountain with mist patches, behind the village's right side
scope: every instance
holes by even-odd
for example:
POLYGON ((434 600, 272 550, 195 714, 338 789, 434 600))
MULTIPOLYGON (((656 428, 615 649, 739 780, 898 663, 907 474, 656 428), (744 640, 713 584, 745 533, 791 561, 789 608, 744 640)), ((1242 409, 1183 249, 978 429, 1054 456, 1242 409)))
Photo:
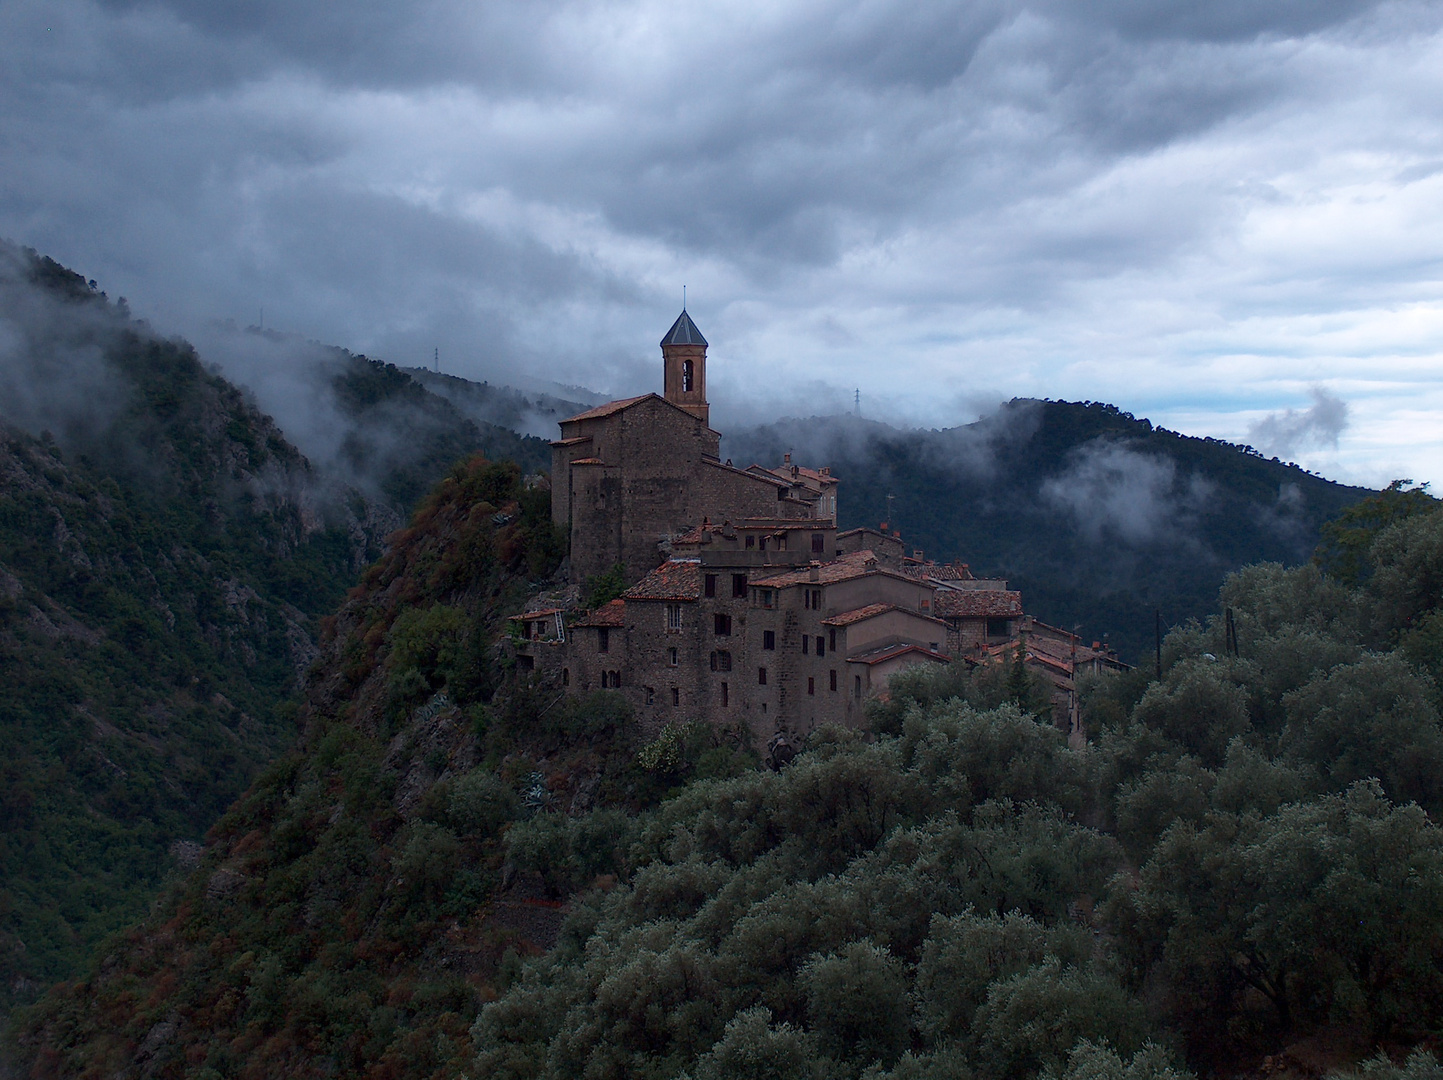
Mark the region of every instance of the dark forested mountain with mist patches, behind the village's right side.
POLYGON ((723 440, 743 466, 786 452, 841 478, 843 528, 886 520, 1133 663, 1152 654, 1154 611, 1166 630, 1211 611, 1229 570, 1306 562, 1319 527, 1369 494, 1091 401, 1019 399, 942 430, 788 419, 723 440))

